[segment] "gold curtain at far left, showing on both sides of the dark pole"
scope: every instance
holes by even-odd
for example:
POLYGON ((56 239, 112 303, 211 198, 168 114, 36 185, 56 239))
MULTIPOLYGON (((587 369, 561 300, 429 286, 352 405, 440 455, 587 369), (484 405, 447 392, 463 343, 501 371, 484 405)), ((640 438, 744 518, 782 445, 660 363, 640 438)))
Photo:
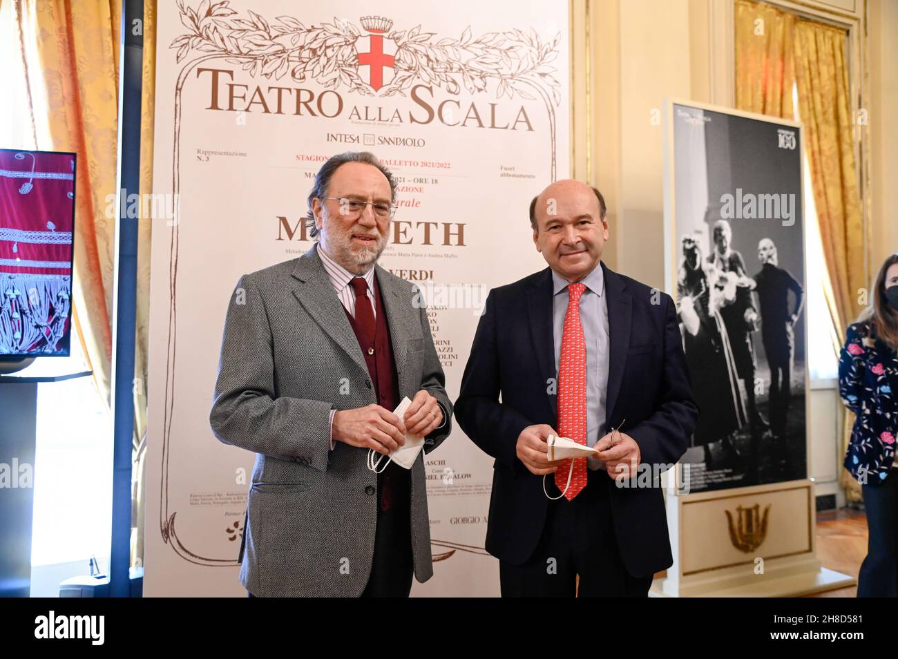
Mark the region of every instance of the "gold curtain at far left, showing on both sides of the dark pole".
MULTIPOLYGON (((121 0, 9 0, 22 40, 39 149, 75 151, 73 318, 101 399, 110 405, 112 293, 119 110, 121 0)), ((140 192, 151 192, 155 83, 155 1, 145 2, 140 192)), ((141 205, 143 206, 143 205, 141 205)), ((146 327, 150 218, 139 220, 133 444, 132 562, 143 556, 142 444, 146 429, 146 327)))

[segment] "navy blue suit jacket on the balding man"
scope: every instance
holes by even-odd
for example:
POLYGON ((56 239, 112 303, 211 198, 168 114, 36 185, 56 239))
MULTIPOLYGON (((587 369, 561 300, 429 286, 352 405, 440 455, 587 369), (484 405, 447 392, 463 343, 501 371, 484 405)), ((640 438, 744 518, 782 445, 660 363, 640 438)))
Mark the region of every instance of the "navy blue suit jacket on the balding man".
MULTIPOLYGON (((611 335, 606 427, 626 419, 621 432, 639 444, 643 463, 673 464, 686 451, 698 418, 674 301, 602 268, 611 335)), ((552 277, 546 268, 490 291, 455 402, 459 426, 496 459, 486 549, 514 565, 536 549, 549 503, 542 477, 524 467, 515 446, 526 426, 558 429, 557 388, 550 388, 556 376, 552 277)), ((627 571, 648 576, 670 567, 661 488, 612 483, 611 491, 614 531, 627 571)))

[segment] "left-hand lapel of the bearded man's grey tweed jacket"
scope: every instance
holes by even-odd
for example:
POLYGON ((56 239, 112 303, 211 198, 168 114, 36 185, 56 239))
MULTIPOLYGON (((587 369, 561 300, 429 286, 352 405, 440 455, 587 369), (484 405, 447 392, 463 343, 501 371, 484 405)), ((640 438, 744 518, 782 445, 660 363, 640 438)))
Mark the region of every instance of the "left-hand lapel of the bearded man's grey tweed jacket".
POLYGON ((317 322, 321 330, 352 357, 352 360, 365 373, 368 367, 365 365, 365 357, 362 349, 358 347, 356 333, 349 325, 346 312, 340 303, 334 287, 330 283, 327 271, 318 256, 318 245, 304 253, 296 261, 293 277, 297 280, 293 287, 293 294, 306 312, 317 322))

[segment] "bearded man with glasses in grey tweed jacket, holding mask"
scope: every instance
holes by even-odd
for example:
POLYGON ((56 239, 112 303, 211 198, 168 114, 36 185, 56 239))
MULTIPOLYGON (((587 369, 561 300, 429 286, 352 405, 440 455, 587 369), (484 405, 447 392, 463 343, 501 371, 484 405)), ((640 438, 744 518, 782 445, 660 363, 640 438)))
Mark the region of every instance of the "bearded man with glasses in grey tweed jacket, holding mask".
POLYGON ((239 558, 251 596, 408 596, 413 573, 433 575, 424 453, 452 403, 418 289, 376 265, 395 189, 373 154, 330 158, 309 195, 312 249, 244 275, 228 305, 209 421, 257 453, 239 558), (379 470, 406 435, 424 437, 411 469, 372 470, 369 452, 379 470))

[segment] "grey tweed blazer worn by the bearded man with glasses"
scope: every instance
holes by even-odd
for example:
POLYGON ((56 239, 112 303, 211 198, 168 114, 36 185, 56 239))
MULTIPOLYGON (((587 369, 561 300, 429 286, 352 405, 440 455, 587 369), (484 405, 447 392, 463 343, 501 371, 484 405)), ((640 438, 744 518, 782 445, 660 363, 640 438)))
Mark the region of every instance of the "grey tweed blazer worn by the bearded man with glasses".
MULTIPOLYGON (((400 400, 426 389, 445 410, 411 470, 415 577, 433 575, 424 453, 451 429, 452 402, 417 288, 376 267, 400 400)), ((240 580, 260 597, 358 596, 374 556, 377 477, 367 449, 330 451, 330 410, 376 402, 365 358, 317 246, 241 277, 228 304, 209 423, 257 453, 240 580)), ((392 410, 391 410, 392 411, 392 410)))

